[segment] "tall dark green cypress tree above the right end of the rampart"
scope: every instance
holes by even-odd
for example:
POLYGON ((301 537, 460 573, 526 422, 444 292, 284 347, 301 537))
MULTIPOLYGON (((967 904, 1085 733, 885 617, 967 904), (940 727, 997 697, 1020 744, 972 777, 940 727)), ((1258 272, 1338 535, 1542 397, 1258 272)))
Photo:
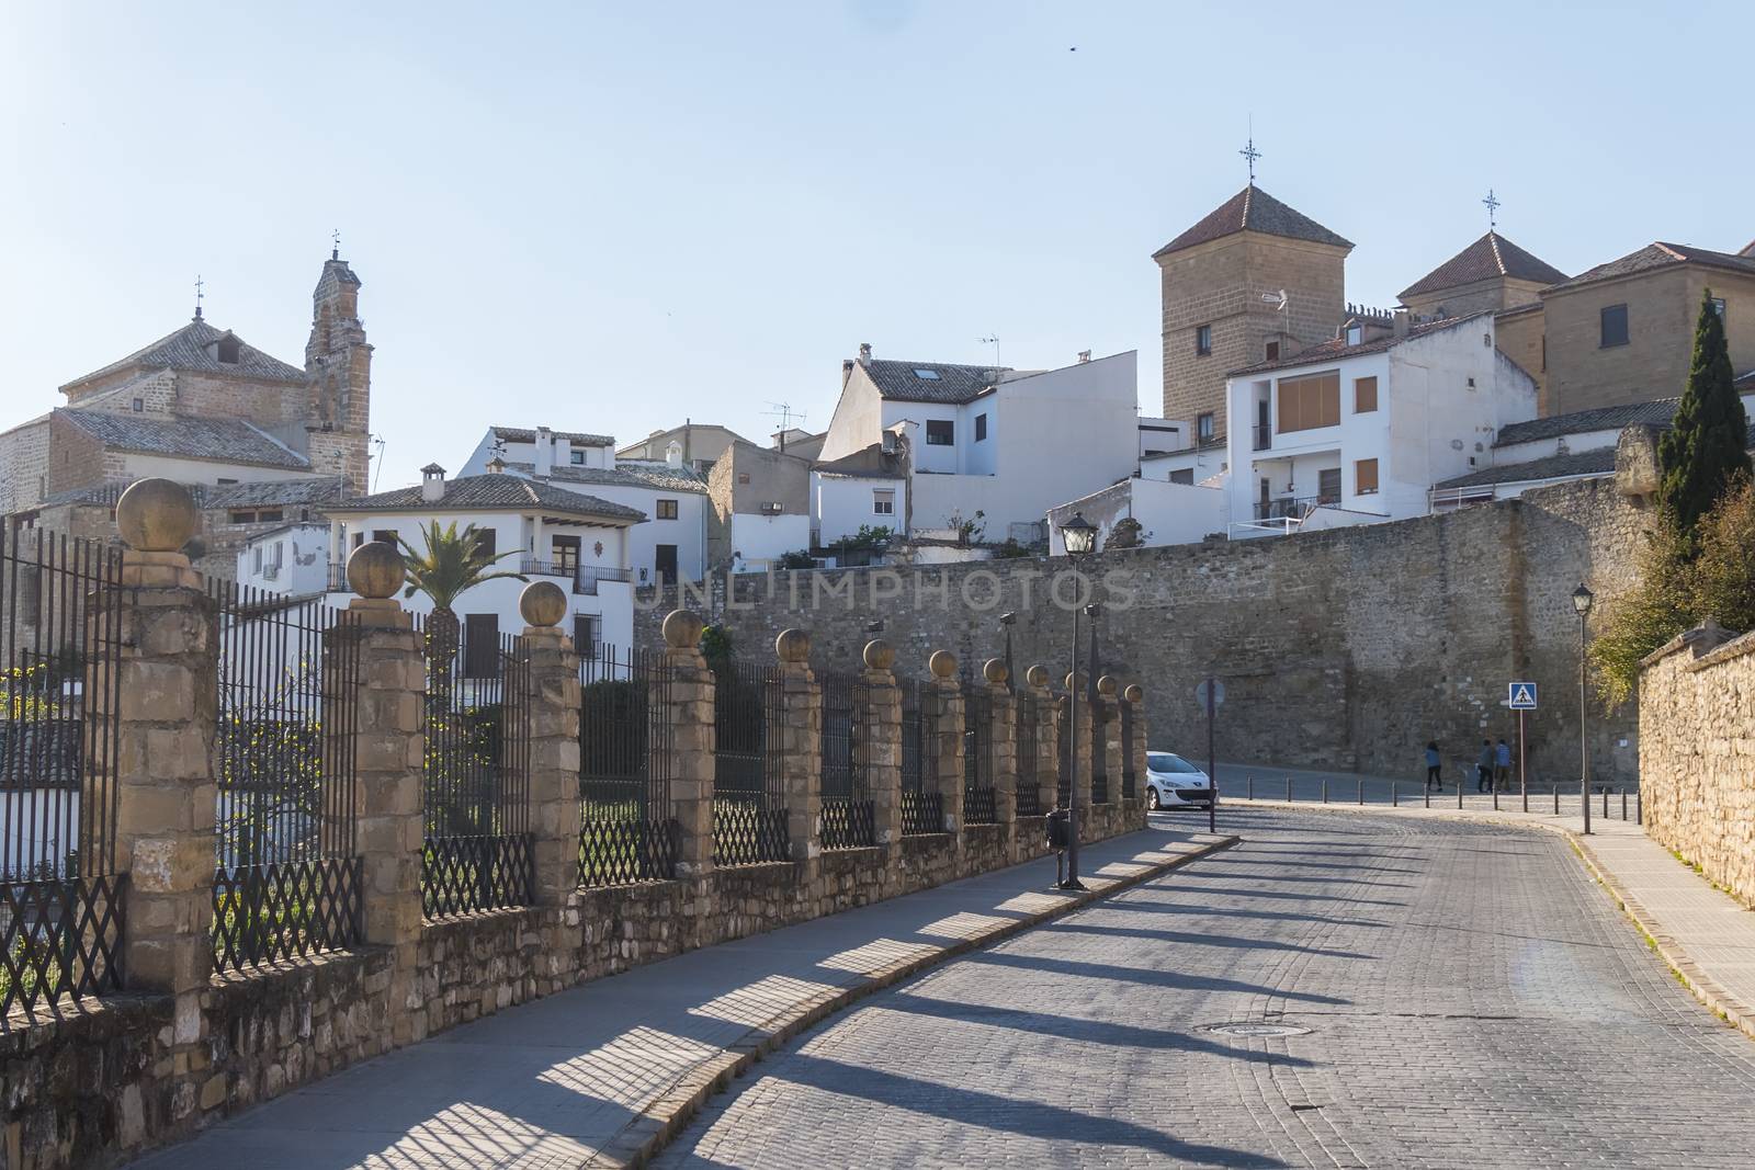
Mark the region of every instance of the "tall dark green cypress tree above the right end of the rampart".
POLYGON ((1674 424, 1657 446, 1658 503, 1690 553, 1701 517, 1737 475, 1750 474, 1748 417, 1732 377, 1725 323, 1713 309, 1713 289, 1706 289, 1694 326, 1688 386, 1674 424))

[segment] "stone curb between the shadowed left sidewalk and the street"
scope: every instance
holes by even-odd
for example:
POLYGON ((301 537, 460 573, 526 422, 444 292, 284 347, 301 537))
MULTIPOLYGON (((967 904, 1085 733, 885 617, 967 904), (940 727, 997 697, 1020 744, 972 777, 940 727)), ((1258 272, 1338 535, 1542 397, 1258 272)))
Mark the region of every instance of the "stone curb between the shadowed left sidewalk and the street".
POLYGON ((758 1059, 784 1047, 799 1035, 809 1031, 823 1019, 849 1007, 851 1003, 883 991, 885 988, 892 988, 904 979, 911 979, 913 975, 937 967, 939 963, 969 954, 971 951, 990 947, 995 942, 1020 935, 1027 930, 1041 926, 1042 923, 1051 923, 1057 917, 1081 910, 1093 902, 1107 898, 1109 895, 1116 895, 1123 889, 1139 886, 1141 882, 1162 877, 1164 874, 1178 870, 1190 861, 1199 861, 1200 858, 1230 849, 1239 840, 1239 837, 1230 835, 1220 837, 1218 840, 1197 845, 1195 849, 1178 854, 1167 861, 1146 865, 1137 874, 1102 879, 1106 882, 1102 888, 1074 895, 1057 907, 1035 910, 1000 926, 988 928, 974 938, 960 938, 941 951, 934 951, 932 954, 897 960, 888 967, 867 972, 865 979, 851 988, 823 991, 793 1003, 779 1016, 751 1028, 744 1033, 744 1040, 728 1045, 720 1051, 718 1056, 707 1058, 688 1070, 674 1086, 670 1086, 669 1093, 646 1105, 646 1109, 642 1109, 637 1117, 628 1121, 628 1124, 623 1126, 612 1140, 591 1154, 591 1158, 579 1163, 581 1170, 588 1166, 612 1166, 618 1170, 623 1166, 644 1166, 658 1151, 669 1145, 690 1121, 695 1119, 695 1114, 700 1112, 700 1107, 706 1105, 709 1098, 716 1093, 727 1091, 735 1077, 741 1077, 758 1059))

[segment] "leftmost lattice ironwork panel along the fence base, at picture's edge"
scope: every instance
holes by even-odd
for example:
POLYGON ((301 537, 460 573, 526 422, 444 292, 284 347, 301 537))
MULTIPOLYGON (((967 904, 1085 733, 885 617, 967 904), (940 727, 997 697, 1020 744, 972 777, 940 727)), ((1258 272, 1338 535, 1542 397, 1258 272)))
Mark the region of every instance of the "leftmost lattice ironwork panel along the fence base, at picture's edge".
POLYGON ((121 989, 126 877, 0 882, 0 1017, 121 989))

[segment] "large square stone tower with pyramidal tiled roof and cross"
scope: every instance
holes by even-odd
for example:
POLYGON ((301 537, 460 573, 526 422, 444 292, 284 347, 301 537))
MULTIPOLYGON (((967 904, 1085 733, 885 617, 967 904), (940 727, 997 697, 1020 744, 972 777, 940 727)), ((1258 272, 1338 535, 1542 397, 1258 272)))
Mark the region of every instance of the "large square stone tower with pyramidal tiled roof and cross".
POLYGON ((1251 182, 1153 253, 1165 417, 1190 423, 1197 440, 1218 439, 1227 374, 1332 340, 1344 316, 1350 251, 1351 242, 1251 182))

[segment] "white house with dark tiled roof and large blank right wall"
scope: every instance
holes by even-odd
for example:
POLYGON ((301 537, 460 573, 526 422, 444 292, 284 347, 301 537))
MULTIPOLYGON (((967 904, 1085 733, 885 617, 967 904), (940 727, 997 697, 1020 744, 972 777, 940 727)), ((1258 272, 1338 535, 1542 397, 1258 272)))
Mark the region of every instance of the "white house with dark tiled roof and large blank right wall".
POLYGON ((885 503, 899 533, 1034 542, 1051 505, 1132 475, 1139 465, 1137 354, 1058 370, 888 361, 860 346, 842 363, 841 400, 823 440, 814 517, 820 544, 885 503), (879 482, 846 461, 897 461, 879 482), (893 493, 883 496, 879 493, 893 493))

